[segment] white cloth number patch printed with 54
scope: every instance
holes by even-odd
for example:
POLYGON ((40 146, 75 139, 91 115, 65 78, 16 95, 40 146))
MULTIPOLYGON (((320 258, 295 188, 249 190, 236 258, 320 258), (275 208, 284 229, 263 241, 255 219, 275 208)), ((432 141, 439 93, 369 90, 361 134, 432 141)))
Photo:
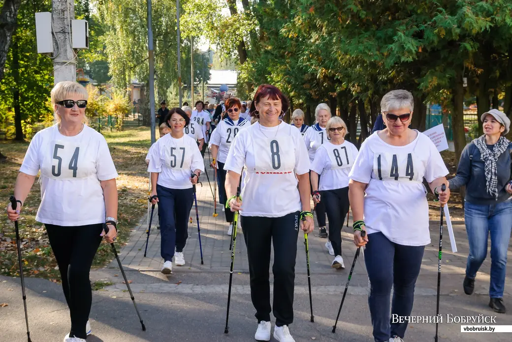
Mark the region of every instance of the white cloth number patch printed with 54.
POLYGON ((54 179, 77 179, 84 175, 79 172, 80 146, 53 142, 52 148, 51 173, 48 176, 54 179))

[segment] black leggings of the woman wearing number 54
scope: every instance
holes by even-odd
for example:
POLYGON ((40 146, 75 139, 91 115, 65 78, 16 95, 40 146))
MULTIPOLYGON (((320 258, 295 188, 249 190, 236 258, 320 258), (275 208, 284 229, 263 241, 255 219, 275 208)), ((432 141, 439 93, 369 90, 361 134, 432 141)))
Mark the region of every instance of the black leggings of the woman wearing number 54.
POLYGON ((57 259, 62 290, 71 315, 69 335, 86 339, 86 324, 92 303, 89 271, 101 243, 103 224, 45 226, 53 254, 57 259))

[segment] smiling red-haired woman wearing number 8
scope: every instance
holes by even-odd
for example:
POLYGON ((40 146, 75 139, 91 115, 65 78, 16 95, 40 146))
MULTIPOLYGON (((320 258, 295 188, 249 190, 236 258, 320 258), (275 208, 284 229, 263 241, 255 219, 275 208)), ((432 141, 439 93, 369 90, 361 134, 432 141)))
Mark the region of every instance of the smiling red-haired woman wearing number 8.
MULTIPOLYGON (((270 249, 273 242, 274 337, 293 342, 295 258, 299 227, 314 228, 310 213, 309 158, 301 132, 281 120, 288 100, 273 85, 260 85, 250 115, 259 122, 240 131, 229 150, 224 169, 227 206, 240 211, 250 272, 251 299, 258 329, 254 338, 270 339, 270 249), (236 200, 240 174, 246 168, 241 200, 236 200), (243 203, 243 204, 242 204, 243 203), (304 220, 303 220, 304 219, 304 220)), ((245 172, 245 171, 244 171, 245 172)))

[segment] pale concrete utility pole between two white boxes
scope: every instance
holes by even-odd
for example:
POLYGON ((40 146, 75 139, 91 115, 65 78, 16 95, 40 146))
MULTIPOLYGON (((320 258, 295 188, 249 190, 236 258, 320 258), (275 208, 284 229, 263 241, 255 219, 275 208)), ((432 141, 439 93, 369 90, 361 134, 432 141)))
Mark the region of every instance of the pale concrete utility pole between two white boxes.
POLYGON ((71 45, 71 20, 75 18, 74 0, 52 0, 52 25, 55 39, 53 51, 53 81, 76 81, 75 52, 71 45))

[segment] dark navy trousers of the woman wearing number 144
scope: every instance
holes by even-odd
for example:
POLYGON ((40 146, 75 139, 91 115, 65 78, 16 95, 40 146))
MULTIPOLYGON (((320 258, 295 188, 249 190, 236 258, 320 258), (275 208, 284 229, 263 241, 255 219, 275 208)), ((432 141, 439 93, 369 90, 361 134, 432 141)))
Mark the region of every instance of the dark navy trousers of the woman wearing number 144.
POLYGON ((406 334, 408 322, 393 323, 393 316, 390 317, 391 287, 391 314, 411 315, 424 249, 425 246, 396 244, 380 232, 368 235, 365 264, 370 279, 368 304, 375 342, 388 342, 390 337, 403 338, 406 334))

